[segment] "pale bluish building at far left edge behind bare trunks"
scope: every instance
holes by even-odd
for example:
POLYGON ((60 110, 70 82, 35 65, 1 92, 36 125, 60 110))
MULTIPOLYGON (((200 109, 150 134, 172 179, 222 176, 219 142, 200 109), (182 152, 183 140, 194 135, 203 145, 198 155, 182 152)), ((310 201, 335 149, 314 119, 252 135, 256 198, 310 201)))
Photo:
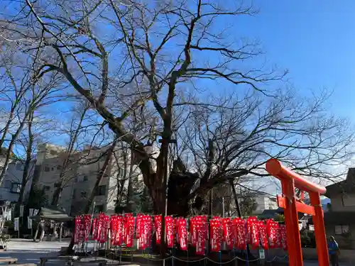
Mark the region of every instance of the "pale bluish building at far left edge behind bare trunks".
MULTIPOLYGON (((35 160, 30 163, 28 169, 28 178, 25 187, 24 199, 28 197, 28 193, 31 189, 32 177, 34 172, 35 160)), ((4 180, 0 187, 0 201, 17 202, 20 194, 22 177, 23 177, 23 162, 13 161, 9 164, 9 167, 4 176, 4 180)))

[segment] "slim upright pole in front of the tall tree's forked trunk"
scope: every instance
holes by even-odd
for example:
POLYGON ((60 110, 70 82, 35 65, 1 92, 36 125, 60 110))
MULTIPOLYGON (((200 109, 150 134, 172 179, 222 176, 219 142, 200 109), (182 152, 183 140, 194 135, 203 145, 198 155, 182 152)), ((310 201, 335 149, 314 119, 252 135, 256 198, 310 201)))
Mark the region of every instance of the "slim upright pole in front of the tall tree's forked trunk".
POLYGON ((163 266, 165 266, 165 254, 166 254, 166 230, 165 230, 165 216, 168 215, 168 196, 167 196, 167 187, 168 187, 168 153, 169 153, 169 143, 176 143, 176 140, 170 138, 160 138, 158 140, 162 145, 163 150, 163 162, 164 162, 164 176, 163 176, 163 202, 164 202, 164 213, 161 216, 161 230, 163 233, 163 238, 160 241, 160 255, 163 256, 163 266))

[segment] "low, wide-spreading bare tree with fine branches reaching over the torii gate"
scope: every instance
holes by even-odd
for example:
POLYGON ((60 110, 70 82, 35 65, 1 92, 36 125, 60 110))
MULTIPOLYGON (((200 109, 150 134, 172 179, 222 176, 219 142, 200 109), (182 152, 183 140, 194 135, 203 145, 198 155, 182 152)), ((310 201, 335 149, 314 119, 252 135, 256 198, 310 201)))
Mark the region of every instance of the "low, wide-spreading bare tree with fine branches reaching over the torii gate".
POLYGON ((246 95, 193 105, 177 133, 185 145, 180 157, 196 173, 196 181, 183 188, 190 192, 187 195, 171 180, 169 194, 181 199, 170 204, 170 212, 186 209, 178 206, 186 204, 184 199, 195 199, 194 207, 201 209, 209 189, 230 180, 236 186, 262 189, 268 184, 264 167, 271 157, 307 177, 337 180, 342 173, 329 167, 350 160, 354 134, 346 120, 327 114, 326 99, 327 94, 297 99, 292 92, 280 92, 263 101, 246 95))

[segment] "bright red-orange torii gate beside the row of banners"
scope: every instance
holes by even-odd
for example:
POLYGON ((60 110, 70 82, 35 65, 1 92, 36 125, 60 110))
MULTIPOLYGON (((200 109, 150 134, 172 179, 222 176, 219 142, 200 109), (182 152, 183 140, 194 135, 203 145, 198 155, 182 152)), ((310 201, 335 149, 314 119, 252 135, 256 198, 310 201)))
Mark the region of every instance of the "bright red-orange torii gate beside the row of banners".
POLYGON ((266 162, 266 170, 274 177, 280 179, 282 184, 283 196, 278 196, 278 206, 285 209, 286 233, 288 238, 288 260, 290 266, 303 266, 302 248, 300 238, 300 228, 298 225, 298 214, 302 212, 312 215, 315 225, 315 238, 317 243, 317 255, 320 266, 329 265, 327 238, 325 235, 324 218, 320 195, 327 189, 312 183, 301 177, 300 174, 289 170, 281 165, 276 159, 266 162), (308 192, 310 195, 310 205, 297 200, 295 188, 308 192))

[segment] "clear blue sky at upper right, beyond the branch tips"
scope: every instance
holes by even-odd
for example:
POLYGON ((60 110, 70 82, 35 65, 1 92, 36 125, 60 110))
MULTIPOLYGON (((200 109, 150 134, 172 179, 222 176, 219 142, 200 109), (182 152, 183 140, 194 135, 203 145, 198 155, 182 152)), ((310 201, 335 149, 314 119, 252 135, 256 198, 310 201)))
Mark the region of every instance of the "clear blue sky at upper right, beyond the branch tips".
POLYGON ((237 29, 261 40, 269 62, 290 70, 303 92, 334 90, 332 113, 355 120, 355 1, 254 1, 260 12, 237 29))

